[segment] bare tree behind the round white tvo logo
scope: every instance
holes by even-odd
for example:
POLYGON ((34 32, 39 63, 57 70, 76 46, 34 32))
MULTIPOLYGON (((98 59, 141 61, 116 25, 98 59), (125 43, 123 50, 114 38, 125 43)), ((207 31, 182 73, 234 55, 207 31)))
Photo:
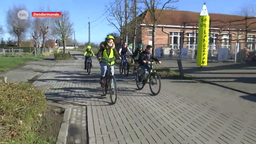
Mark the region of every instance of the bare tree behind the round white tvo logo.
POLYGON ((25 5, 13 5, 9 8, 6 14, 7 29, 11 35, 17 36, 18 46, 20 47, 20 42, 25 36, 27 30, 30 28, 30 17, 28 20, 21 20, 18 18, 18 12, 21 10, 27 10, 25 5))

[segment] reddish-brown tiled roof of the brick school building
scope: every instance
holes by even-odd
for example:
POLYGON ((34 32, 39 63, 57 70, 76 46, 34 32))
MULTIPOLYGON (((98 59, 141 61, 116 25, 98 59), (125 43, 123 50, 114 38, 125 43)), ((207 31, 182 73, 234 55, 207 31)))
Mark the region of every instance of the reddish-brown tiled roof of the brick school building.
MULTIPOLYGON (((157 20, 158 25, 181 26, 182 24, 186 24, 186 26, 196 27, 196 25, 198 25, 200 12, 177 10, 162 10, 161 12, 161 9, 156 9, 155 15, 156 18, 159 17, 157 20)), ((212 21, 210 25, 211 28, 246 29, 244 16, 219 13, 209 13, 209 16, 210 20, 212 21)), ((152 24, 149 10, 146 10, 145 12, 140 14, 139 17, 144 17, 144 24, 152 24)), ((256 29, 256 18, 248 17, 247 26, 248 29, 256 29)))

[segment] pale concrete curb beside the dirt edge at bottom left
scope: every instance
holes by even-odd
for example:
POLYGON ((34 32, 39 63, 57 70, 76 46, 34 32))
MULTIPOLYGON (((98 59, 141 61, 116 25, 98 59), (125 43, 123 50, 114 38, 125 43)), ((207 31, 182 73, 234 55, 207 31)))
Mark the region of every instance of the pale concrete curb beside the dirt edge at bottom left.
POLYGON ((66 108, 64 115, 63 115, 64 122, 60 126, 60 131, 58 133, 56 144, 66 144, 67 143, 70 113, 71 113, 71 108, 66 108))

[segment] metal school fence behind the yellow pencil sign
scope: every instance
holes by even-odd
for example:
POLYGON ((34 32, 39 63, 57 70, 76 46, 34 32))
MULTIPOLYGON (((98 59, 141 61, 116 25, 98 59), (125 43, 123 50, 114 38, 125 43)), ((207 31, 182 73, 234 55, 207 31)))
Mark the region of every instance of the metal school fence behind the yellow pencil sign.
MULTIPOLYGON (((214 61, 234 61, 234 62, 245 62, 245 61, 256 61, 256 42, 239 42, 230 43, 226 47, 213 47, 209 44, 208 48, 208 60, 214 61)), ((185 45, 185 44, 184 44, 185 45)), ((221 45, 221 44, 215 44, 221 45)), ((179 44, 176 46, 169 46, 167 44, 156 45, 156 57, 160 57, 161 50, 164 50, 165 56, 170 56, 171 58, 178 59, 194 59, 196 60, 196 45, 183 48, 185 53, 181 52, 179 49, 179 44), (173 49, 175 47, 175 49, 173 49), (173 54, 170 55, 170 50, 172 49, 173 54)))

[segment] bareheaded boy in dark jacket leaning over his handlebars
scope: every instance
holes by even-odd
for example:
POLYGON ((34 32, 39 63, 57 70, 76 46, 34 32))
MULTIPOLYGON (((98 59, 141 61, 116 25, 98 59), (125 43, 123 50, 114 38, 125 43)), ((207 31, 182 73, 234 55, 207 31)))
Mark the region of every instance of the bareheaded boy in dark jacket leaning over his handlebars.
POLYGON ((155 60, 156 62, 158 62, 159 64, 161 64, 162 62, 157 60, 155 57, 153 57, 153 55, 151 54, 152 52, 152 45, 147 45, 146 47, 146 51, 143 51, 140 53, 140 56, 138 58, 138 63, 140 65, 140 68, 143 70, 143 74, 146 75, 148 73, 148 70, 150 68, 150 64, 148 64, 148 62, 152 59, 155 60))

